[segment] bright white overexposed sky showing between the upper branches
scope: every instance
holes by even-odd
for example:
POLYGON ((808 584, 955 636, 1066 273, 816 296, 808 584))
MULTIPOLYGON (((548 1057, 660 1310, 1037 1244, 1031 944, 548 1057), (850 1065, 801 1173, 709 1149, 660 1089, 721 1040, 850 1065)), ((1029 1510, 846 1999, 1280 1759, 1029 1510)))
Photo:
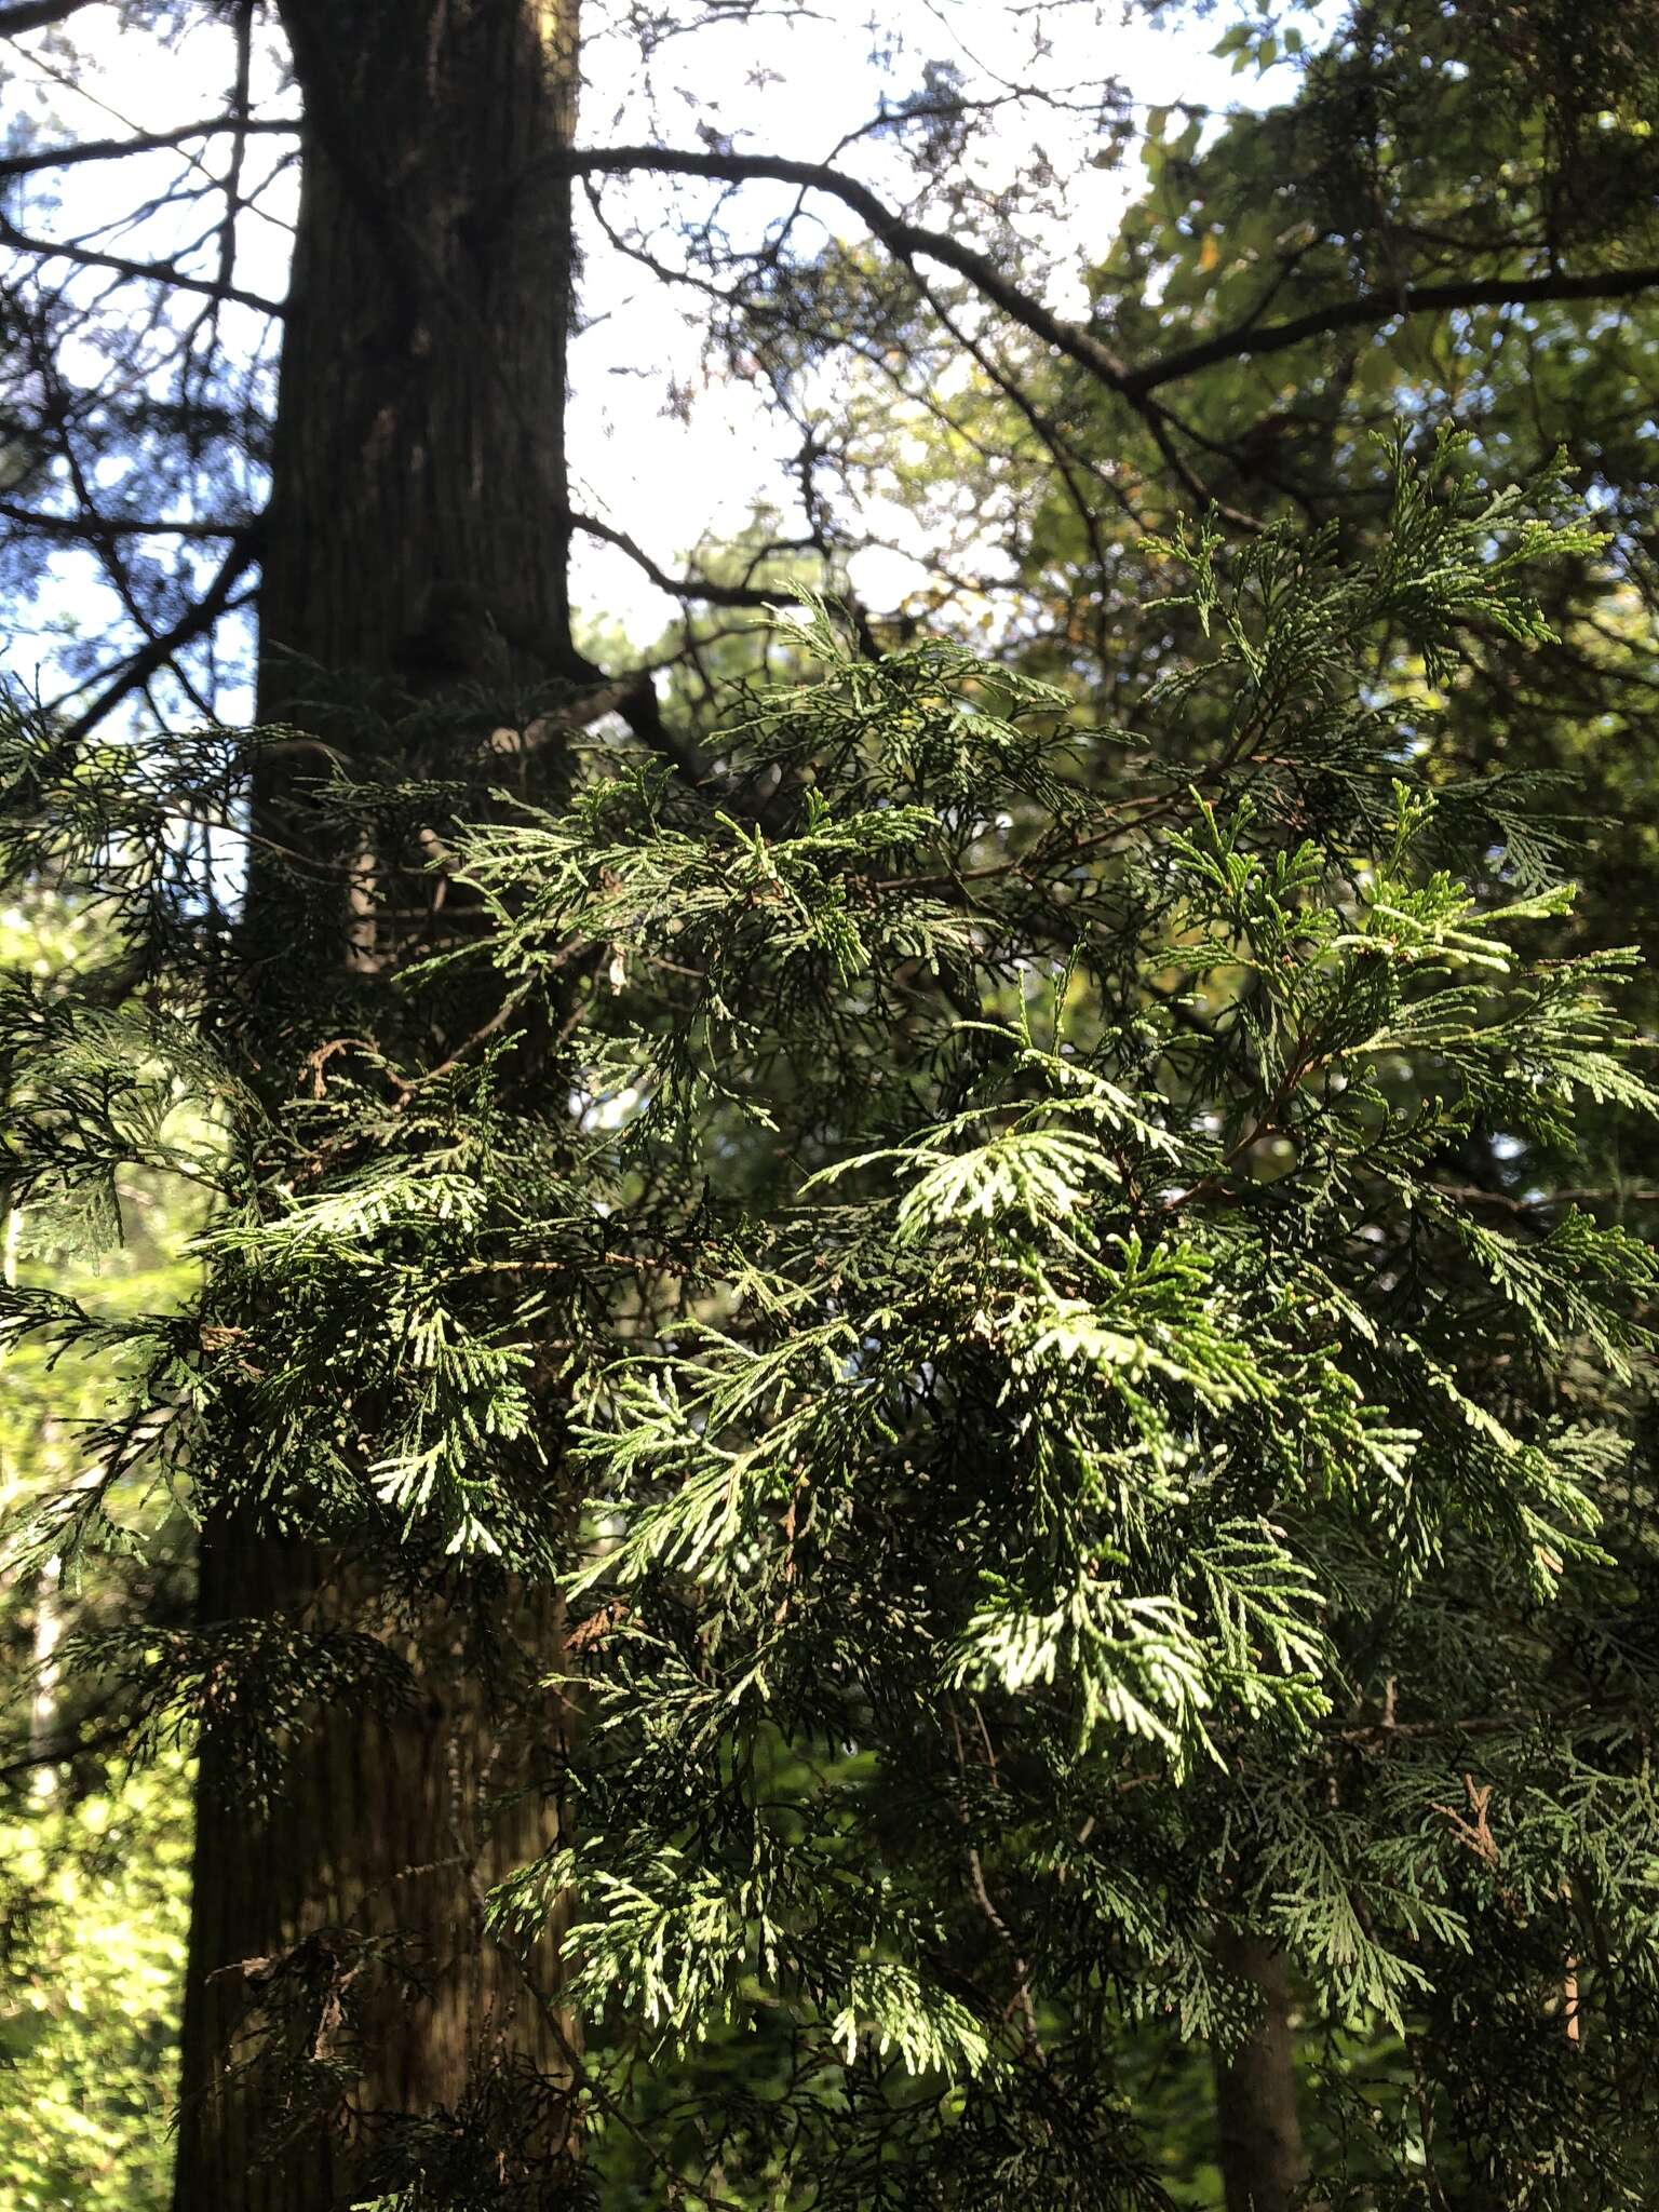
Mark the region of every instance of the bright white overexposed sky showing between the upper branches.
MULTIPOLYGON (((710 117, 739 146, 776 150, 796 157, 827 157, 849 128, 867 122, 883 97, 896 102, 918 88, 922 60, 951 60, 971 80, 987 71, 1024 80, 1029 69, 1029 22, 1011 22, 995 0, 909 0, 887 7, 883 22, 902 22, 909 51, 880 73, 869 62, 872 0, 823 0, 816 18, 787 20, 759 15, 701 27, 695 35, 672 42, 664 55, 668 80, 644 86, 637 51, 622 40, 597 38, 584 49, 591 84, 584 93, 582 137, 591 144, 630 142, 661 135, 672 144, 697 144, 697 124, 710 117), (648 97, 655 95, 657 131, 646 122, 648 97), (677 124, 677 117, 681 119, 677 124)), ((1044 84, 1086 86, 1104 75, 1121 77, 1133 97, 1148 106, 1197 102, 1212 108, 1285 97, 1290 80, 1274 69, 1265 82, 1254 73, 1232 75, 1230 62, 1210 55, 1210 44, 1225 27, 1225 15, 1203 24, 1157 29, 1141 15, 1124 20, 1115 7, 1057 7, 1046 24, 1053 51, 1042 64, 1044 84)), ((35 77, 18 66, 9 71, 4 97, 9 119, 38 117, 38 137, 119 137, 126 131, 157 131, 212 115, 223 104, 230 75, 230 33, 223 24, 199 24, 173 49, 146 33, 122 33, 113 15, 93 11, 75 24, 77 44, 91 66, 80 80, 46 62, 49 75, 35 77)), ((51 58, 42 38, 13 42, 15 64, 24 58, 51 58)), ((268 102, 279 113, 274 77, 268 102)), ((984 135, 975 155, 989 179, 998 168, 1013 166, 1033 146, 1051 155, 1066 179, 1064 215, 1046 221, 1033 234, 1033 248, 1055 252, 1060 270, 1044 285, 1051 305, 1077 312, 1082 305, 1082 268, 1097 259, 1115 230, 1126 201, 1141 181, 1139 159, 1130 157, 1115 170, 1097 170, 1088 155, 1099 146, 1088 124, 1055 117, 1051 108, 1004 108, 984 135)), ((270 159, 279 142, 252 142, 250 159, 270 159)), ((157 155, 157 186, 173 173, 173 155, 157 155)), ((206 159, 223 161, 223 142, 206 159)), ((880 155, 860 146, 847 161, 858 173, 880 179, 880 155)), ((49 181, 58 192, 58 210, 40 210, 42 186, 29 188, 22 210, 24 228, 51 234, 53 226, 77 232, 115 212, 113 190, 122 204, 131 195, 131 161, 113 168, 88 166, 49 181), (113 181, 117 179, 117 181, 113 181), (40 210, 40 212, 31 212, 40 210)), ((292 204, 292 177, 283 179, 270 199, 272 212, 292 204)), ((608 186, 628 195, 630 208, 666 206, 672 192, 664 179, 639 179, 608 186), (653 199, 655 195, 655 199, 653 199)), ((745 188, 743 210, 757 226, 781 212, 792 195, 745 188)), ((830 230, 843 223, 852 234, 854 219, 834 204, 814 201, 830 230)), ((805 234, 803 234, 805 237, 805 234)), ((155 228, 142 243, 117 241, 115 250, 155 254, 175 250, 155 228)), ((241 285, 281 296, 285 290, 285 232, 276 223, 252 221, 237 265, 241 285)), ((690 301, 690 296, 688 296, 690 301)), ((597 237, 588 239, 584 274, 586 330, 573 349, 571 462, 577 504, 628 531, 666 568, 703 538, 719 540, 739 531, 757 498, 781 498, 779 458, 790 445, 787 425, 776 425, 761 398, 745 385, 710 385, 695 398, 686 425, 664 411, 664 376, 679 385, 699 383, 697 332, 664 314, 661 285, 637 265, 622 261, 597 237), (648 374, 639 374, 639 372, 648 374)), ((880 520, 883 535, 902 535, 909 526, 898 511, 880 520)), ((918 580, 898 555, 869 551, 858 555, 856 584, 874 606, 896 604, 918 580)), ((670 599, 657 593, 626 555, 582 542, 575 568, 575 597, 582 606, 619 619, 628 633, 648 641, 675 613, 670 599)), ((226 701, 230 712, 230 701, 226 701)))

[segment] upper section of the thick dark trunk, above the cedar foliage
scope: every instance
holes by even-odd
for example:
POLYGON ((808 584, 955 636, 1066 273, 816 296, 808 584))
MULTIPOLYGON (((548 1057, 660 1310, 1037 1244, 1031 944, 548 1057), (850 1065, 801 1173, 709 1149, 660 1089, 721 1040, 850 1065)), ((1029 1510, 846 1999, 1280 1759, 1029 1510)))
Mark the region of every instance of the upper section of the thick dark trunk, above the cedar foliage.
POLYGON ((270 653, 442 666, 456 619, 568 653, 577 0, 285 0, 305 97, 259 597, 270 653))

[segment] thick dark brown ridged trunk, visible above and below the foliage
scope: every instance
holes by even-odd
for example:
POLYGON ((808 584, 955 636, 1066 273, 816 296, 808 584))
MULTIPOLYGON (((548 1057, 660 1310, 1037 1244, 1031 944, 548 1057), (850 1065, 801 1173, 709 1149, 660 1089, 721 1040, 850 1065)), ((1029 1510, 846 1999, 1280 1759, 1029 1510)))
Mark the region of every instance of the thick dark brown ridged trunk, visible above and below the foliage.
MULTIPOLYGON (((507 188, 571 139, 577 0, 283 0, 283 20, 307 124, 261 719, 301 719, 294 657, 440 690, 484 672, 500 639, 520 657, 529 639, 557 672, 568 192, 509 210, 507 188)), ((261 810, 274 821, 281 792, 254 794, 254 827, 261 810)), ((281 925, 283 896, 257 867, 261 931, 281 925)), ((349 916, 332 942, 305 927, 312 942, 270 964, 276 995, 303 993, 319 964, 363 964, 349 916)), ((502 1608, 540 1672, 560 1672, 553 1601, 504 1586, 502 1608)), ((374 1626, 409 1659, 418 1699, 396 1721, 330 1708, 263 1814, 237 1801, 230 1756, 204 1747, 175 2212, 336 2212, 363 2194, 389 2124, 427 2115, 442 2135, 438 2115, 480 2095, 513 2106, 531 2163, 555 2166, 568 2130, 546 2099, 538 2117, 538 2084, 568 2079, 551 1944, 538 1993, 478 1922, 482 1891, 544 1849, 555 1814, 533 1790, 480 1818, 526 1745, 480 1688, 460 1610, 429 1599, 392 1626, 361 1566, 210 1509, 199 1615, 374 1626), (268 2059, 288 2077, 239 2066, 261 2011, 283 2015, 268 2059), (325 2119, 305 2106, 319 2081, 338 2084, 325 2119)), ((560 1721, 546 1705, 542 1745, 560 1721)))

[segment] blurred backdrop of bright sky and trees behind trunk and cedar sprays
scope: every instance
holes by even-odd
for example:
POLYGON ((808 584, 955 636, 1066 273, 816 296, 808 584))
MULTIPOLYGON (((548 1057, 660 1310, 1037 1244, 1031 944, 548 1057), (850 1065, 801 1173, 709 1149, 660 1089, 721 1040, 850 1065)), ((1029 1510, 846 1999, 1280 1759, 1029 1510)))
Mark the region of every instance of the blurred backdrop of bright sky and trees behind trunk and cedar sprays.
MULTIPOLYGON (((288 22, 301 49, 305 18, 288 22)), ((1455 425, 1471 436, 1458 467, 1495 484, 1535 480, 1559 449, 1571 500, 1606 540, 1544 573, 1548 639, 1522 657, 1515 639, 1478 635, 1455 668, 1427 668, 1389 635, 1371 686, 1411 699, 1400 728, 1429 781, 1533 779, 1526 818, 1582 887, 1551 953, 1635 942, 1646 971, 1659 931, 1659 20, 1644 7, 1584 20, 1542 0, 1237 20, 1155 9, 1128 29, 1093 9, 1029 18, 918 9, 872 27, 710 7, 684 20, 624 9, 604 35, 588 29, 591 133, 701 153, 672 186, 611 186, 595 170, 580 195, 566 509, 593 557, 573 568, 577 659, 564 681, 597 692, 602 670, 626 670, 635 737, 701 759, 732 686, 821 666, 787 608, 790 588, 810 586, 845 608, 863 650, 962 639, 1057 684, 1077 717, 1133 719, 1197 635, 1192 617, 1161 611, 1168 577, 1144 544, 1181 511, 1214 509, 1239 540, 1290 520, 1334 522, 1360 544, 1385 509, 1378 436, 1394 425, 1418 438, 1455 425), (708 58, 699 46, 681 71, 697 40, 708 58), (818 122, 825 86, 847 102, 845 128, 818 122), (1237 86, 1245 97, 1230 106, 1237 86), (615 131, 606 104, 628 111, 615 131), (927 241, 880 234, 858 199, 810 221, 805 179, 743 177, 750 146, 761 164, 779 148, 836 170, 863 159, 867 192, 902 199, 905 221, 927 219, 933 239, 978 237, 991 288, 978 263, 929 263, 927 241), (730 197, 739 184, 748 199, 730 197), (1011 312, 995 272, 1040 305, 1011 312), (1091 347, 1157 376, 1102 376, 1091 347)), ((292 223, 283 31, 252 7, 84 4, 0 7, 0 33, 13 684, 60 726, 139 745, 192 719, 237 723, 252 712, 270 467, 261 425, 279 321, 265 296, 281 294, 292 223), (75 80, 97 86, 95 128, 75 80), (206 84, 204 108, 228 88, 230 128, 188 133, 188 113, 161 111, 159 91, 139 106, 122 80, 139 97, 166 84, 173 102, 181 82, 192 97, 206 84), (49 148, 71 135, 161 144, 55 164, 49 148), (117 161, 142 166, 113 192, 117 161)), ((237 863, 208 847, 206 865, 237 863)), ((51 980, 100 958, 82 942, 97 927, 35 878, 0 918, 0 960, 51 980)), ((1641 978, 1626 1009, 1650 1029, 1641 978)), ((1409 1095, 1422 1075, 1400 1055, 1387 1079, 1409 1095)), ((1267 1146, 1263 1183, 1283 1168, 1267 1146)), ((1650 1152, 1641 1126, 1590 1108, 1568 1148, 1484 1126, 1455 1175, 1442 1161, 1442 1181, 1478 1192, 1482 1219, 1506 1230, 1582 1203, 1641 1237, 1659 1203, 1650 1152)), ((177 1177, 135 1170, 122 1210, 124 1248, 95 1265, 73 1239, 27 1250, 9 1212, 9 1281, 73 1283, 113 1323, 186 1305, 199 1203, 177 1177)), ((35 1343, 7 1378, 0 1451, 15 1511, 73 1489, 113 1385, 97 1352, 51 1358, 35 1343)), ((1588 1400, 1601 1378, 1590 1358, 1573 1387, 1588 1400)), ((1639 1380, 1619 1418, 1646 1440, 1639 1380)), ((135 1710, 119 1670, 60 1670, 64 1639, 73 1648, 135 1608, 161 1626, 186 1617, 192 1555, 177 1513, 142 1482, 126 1513, 146 1537, 135 1559, 93 1557, 64 1579, 24 1548, 0 1593, 0 2203, 18 2212, 161 2205, 173 2192, 188 1732, 135 1710)), ((1595 1666, 1584 1657, 1586 1699, 1617 1681, 1619 1725, 1659 1666, 1646 1493, 1630 1517, 1617 1621, 1590 1590, 1566 1637, 1582 1657, 1601 1641, 1595 1666)), ((1484 1801, 1475 1781, 1460 1796, 1464 1772, 1451 1756, 1444 1834, 1478 1865, 1484 1801)), ((1586 1991, 1590 1951, 1568 1953, 1586 1991)), ((1619 2031, 1597 2020, 1588 2033, 1599 2051, 1619 2031)), ((1409 2042, 1380 2020, 1340 2037, 1307 2026, 1301 2055, 1334 2079, 1329 2112, 1345 2084, 1363 2097, 1371 2079, 1405 2079, 1407 2059, 1409 2042)), ((743 2059, 717 2042, 703 2064, 719 2081, 743 2059)), ((1152 2179, 1183 2203, 1219 2203, 1223 2188, 1201 2077, 1161 2028, 1124 2057, 1152 2179)), ((1650 2086, 1624 2073, 1606 2095, 1637 2174, 1617 2185, 1637 2188, 1655 2157, 1650 2086)))

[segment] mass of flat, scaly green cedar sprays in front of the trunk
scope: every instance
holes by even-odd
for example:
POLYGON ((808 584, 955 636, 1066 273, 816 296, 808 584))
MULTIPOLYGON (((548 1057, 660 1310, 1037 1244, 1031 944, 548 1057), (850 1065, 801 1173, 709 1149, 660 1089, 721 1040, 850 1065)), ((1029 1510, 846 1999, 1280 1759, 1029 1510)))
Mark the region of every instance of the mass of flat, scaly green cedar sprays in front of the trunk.
POLYGON ((20 1542, 122 1548, 148 1482, 376 1590, 80 1668, 254 1823, 321 1705, 407 1697, 400 1593, 502 1699, 513 1593, 575 1621, 511 1717, 580 1714, 573 1818, 476 1929, 533 1978, 568 1918, 566 2079, 361 2112, 365 1993, 427 1962, 259 1966, 241 2062, 369 2139, 387 2212, 1168 2203, 1126 2068, 1239 2042, 1232 1938, 1296 1975, 1321 2203, 1644 2201, 1655 1263, 1455 1164, 1655 1093, 1628 962, 1553 958, 1537 794, 1431 785, 1367 681, 1380 630, 1427 681, 1467 626, 1542 641, 1540 566, 1595 551, 1553 482, 1396 445, 1356 564, 1157 549, 1208 653, 1135 730, 805 602, 814 679, 737 699, 701 783, 557 690, 312 672, 325 745, 13 701, 7 872, 111 945, 7 982, 13 1203, 49 1252, 133 1164, 215 1197, 181 1314, 7 1294, 135 1376, 20 1542), (305 836, 250 865, 316 942, 356 894, 338 969, 228 911, 296 745, 305 836))

